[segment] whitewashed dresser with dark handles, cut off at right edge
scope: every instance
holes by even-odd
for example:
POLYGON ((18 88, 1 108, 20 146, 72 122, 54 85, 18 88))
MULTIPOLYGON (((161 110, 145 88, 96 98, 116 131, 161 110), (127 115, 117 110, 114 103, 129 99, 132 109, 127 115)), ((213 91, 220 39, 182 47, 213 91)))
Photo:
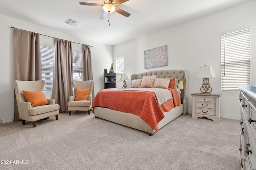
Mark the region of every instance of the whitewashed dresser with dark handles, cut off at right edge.
POLYGON ((240 166, 256 170, 256 85, 240 85, 240 166))

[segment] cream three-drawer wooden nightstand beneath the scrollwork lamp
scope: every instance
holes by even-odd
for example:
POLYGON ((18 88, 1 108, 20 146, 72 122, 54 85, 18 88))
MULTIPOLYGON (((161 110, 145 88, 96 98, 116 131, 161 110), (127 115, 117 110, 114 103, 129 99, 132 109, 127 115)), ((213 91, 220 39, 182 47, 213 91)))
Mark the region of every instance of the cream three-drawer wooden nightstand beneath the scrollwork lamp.
POLYGON ((207 117, 213 121, 220 121, 221 94, 193 93, 192 118, 207 117))

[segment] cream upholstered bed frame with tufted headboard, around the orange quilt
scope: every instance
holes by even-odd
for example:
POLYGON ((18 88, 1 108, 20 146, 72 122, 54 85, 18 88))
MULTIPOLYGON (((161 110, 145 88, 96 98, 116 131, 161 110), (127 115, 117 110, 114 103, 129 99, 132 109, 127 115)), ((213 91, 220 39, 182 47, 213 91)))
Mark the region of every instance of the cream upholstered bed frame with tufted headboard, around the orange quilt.
MULTIPOLYGON (((170 111, 166 111, 163 113, 163 116, 160 117, 160 121, 157 122, 157 127, 152 127, 150 123, 146 123, 146 121, 142 120, 142 118, 138 115, 122 112, 114 109, 110 109, 104 105, 101 107, 97 104, 97 95, 104 90, 101 90, 96 94, 94 104, 92 107, 92 112, 94 113, 96 118, 105 119, 108 121, 112 121, 114 123, 118 123, 127 127, 131 127, 134 129, 138 129, 140 131, 144 131, 148 133, 150 136, 154 135, 154 132, 158 131, 160 128, 164 127, 164 125, 168 124, 170 121, 174 120, 176 117, 180 115, 186 115, 188 112, 188 71, 187 70, 156 70, 143 72, 140 74, 133 74, 131 79, 143 79, 144 76, 152 76, 156 75, 156 78, 177 78, 178 80, 183 80, 183 89, 180 90, 180 105, 172 108, 170 111)), ((105 89, 105 91, 116 90, 116 89, 105 89)), ((114 92, 114 91, 112 91, 114 92)), ((109 95, 111 96, 111 95, 109 95)), ((126 95, 125 96, 127 101, 126 95)), ((102 99, 101 99, 102 100, 102 99)), ((108 100, 106 102, 113 102, 112 100, 108 100)), ((125 102, 123 102, 125 103, 125 102)), ((162 106, 163 104, 161 104, 162 106)))

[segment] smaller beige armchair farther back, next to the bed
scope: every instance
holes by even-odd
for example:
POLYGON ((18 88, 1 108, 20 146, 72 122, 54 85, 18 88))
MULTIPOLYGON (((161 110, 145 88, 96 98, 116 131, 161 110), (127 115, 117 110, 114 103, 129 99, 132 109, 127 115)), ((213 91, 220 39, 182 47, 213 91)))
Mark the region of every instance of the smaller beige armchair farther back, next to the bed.
POLYGON ((73 80, 73 87, 74 87, 74 96, 69 97, 68 102, 68 115, 71 114, 71 111, 73 110, 88 110, 88 114, 90 115, 90 110, 92 109, 92 103, 93 103, 93 80, 87 80, 87 81, 76 81, 73 80), (89 90, 89 97, 88 100, 76 100, 76 88, 80 89, 86 89, 90 88, 89 90))

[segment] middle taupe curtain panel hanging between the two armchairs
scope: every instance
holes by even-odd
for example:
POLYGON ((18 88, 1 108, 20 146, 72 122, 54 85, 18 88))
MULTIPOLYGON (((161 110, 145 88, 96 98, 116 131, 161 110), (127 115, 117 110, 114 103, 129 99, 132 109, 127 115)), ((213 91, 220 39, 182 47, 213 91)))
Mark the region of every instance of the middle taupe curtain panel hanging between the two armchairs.
POLYGON ((60 113, 67 113, 68 99, 72 96, 73 70, 72 42, 54 38, 54 74, 52 98, 60 105, 60 113))

